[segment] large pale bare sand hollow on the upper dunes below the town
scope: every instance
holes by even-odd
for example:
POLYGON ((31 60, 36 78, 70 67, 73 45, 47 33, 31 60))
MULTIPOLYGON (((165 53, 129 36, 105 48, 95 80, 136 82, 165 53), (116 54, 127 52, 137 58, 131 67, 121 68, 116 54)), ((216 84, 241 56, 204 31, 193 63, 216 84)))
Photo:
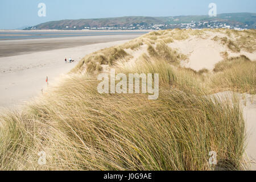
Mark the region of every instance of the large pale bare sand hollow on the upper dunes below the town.
POLYGON ((181 61, 181 66, 192 68, 195 71, 200 71, 200 69, 204 68, 212 71, 214 65, 223 60, 222 52, 228 52, 229 57, 245 55, 252 61, 256 60, 256 52, 249 53, 242 50, 239 53, 235 53, 225 45, 212 40, 214 36, 224 37, 225 34, 210 31, 205 33, 206 36, 204 38, 192 36, 189 39, 175 40, 173 43, 168 44, 171 48, 187 55, 188 59, 181 61))

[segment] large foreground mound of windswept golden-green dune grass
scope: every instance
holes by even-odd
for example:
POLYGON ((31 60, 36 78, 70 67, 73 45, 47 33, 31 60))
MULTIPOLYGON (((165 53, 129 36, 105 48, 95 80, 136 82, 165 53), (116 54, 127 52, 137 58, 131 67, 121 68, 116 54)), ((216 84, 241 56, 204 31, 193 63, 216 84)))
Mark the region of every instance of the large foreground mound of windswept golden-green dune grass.
POLYGON ((94 76, 72 76, 22 114, 1 117, 0 169, 211 170, 210 151, 218 167, 241 169, 238 104, 187 92, 187 78, 164 61, 126 69, 160 73, 159 100, 99 94, 94 76), (45 166, 37 164, 39 151, 45 166))

